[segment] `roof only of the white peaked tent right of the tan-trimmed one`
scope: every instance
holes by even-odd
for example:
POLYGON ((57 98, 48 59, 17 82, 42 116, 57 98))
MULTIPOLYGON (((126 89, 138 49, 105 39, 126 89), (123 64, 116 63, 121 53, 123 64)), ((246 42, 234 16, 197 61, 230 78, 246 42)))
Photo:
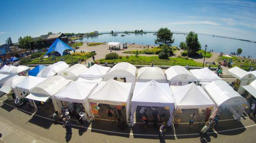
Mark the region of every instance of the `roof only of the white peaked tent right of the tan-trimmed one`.
POLYGON ((158 83, 155 80, 145 83, 136 83, 131 101, 156 104, 174 103, 169 84, 158 83))

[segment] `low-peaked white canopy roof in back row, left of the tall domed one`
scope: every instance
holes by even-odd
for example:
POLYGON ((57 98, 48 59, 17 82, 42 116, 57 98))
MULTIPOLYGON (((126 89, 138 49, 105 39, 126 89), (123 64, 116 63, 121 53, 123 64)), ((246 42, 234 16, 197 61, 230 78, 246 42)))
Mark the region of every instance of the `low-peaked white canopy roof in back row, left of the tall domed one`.
POLYGON ((97 64, 94 64, 92 67, 89 67, 84 73, 80 74, 80 77, 85 79, 97 79, 104 78, 109 72, 110 67, 103 67, 97 64))

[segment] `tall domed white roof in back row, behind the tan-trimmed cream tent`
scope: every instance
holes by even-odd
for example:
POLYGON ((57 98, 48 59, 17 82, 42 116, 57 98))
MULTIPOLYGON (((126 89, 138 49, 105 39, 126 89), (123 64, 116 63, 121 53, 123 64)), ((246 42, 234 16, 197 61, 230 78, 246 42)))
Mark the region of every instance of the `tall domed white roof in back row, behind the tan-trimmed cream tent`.
POLYGON ((130 63, 117 63, 106 76, 136 76, 136 67, 130 63))

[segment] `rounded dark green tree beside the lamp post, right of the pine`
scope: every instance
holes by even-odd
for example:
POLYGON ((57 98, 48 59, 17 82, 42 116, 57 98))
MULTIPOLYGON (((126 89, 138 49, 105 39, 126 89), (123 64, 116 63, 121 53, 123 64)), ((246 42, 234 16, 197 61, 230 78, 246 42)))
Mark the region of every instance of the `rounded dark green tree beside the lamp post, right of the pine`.
POLYGON ((188 33, 186 37, 186 44, 187 44, 187 51, 188 51, 188 56, 194 56, 196 55, 196 52, 198 50, 201 50, 201 44, 198 41, 198 35, 197 33, 191 31, 188 33))

